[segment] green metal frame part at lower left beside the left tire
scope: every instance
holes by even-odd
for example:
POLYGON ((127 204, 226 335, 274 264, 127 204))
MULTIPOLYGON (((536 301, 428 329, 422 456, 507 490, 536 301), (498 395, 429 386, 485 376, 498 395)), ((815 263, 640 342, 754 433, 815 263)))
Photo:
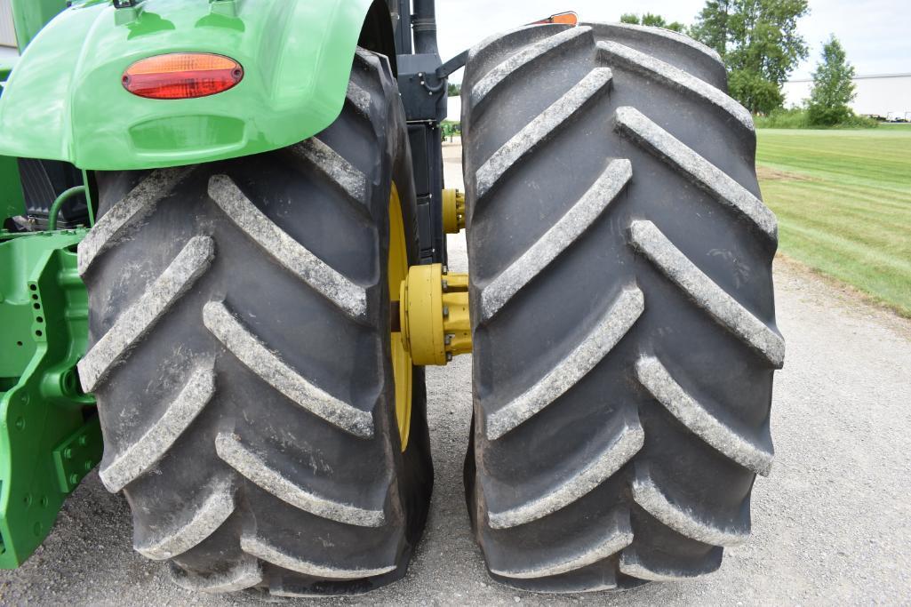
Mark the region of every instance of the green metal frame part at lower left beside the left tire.
POLYGON ((95 400, 76 365, 88 340, 76 245, 85 230, 0 242, 0 568, 41 544, 101 458, 95 400))

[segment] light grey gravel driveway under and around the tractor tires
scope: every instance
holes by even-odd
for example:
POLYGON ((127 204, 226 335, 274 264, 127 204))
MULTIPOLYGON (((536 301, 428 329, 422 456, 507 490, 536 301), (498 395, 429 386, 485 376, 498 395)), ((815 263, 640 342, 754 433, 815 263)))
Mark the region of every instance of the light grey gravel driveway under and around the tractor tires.
MULTIPOLYGON (((445 152, 447 185, 459 185, 460 148, 445 152)), ((464 238, 449 242, 452 269, 466 271, 464 238)), ((427 374, 436 486, 410 571, 366 597, 314 604, 911 603, 911 322, 788 262, 776 263, 775 280, 788 346, 774 391, 775 465, 770 478, 756 481, 752 540, 725 550, 721 571, 701 581, 556 598, 490 581, 463 498, 471 358, 461 356, 427 374)), ((126 501, 92 473, 35 556, 0 572, 0 604, 255 602, 184 592, 131 544, 126 501)))

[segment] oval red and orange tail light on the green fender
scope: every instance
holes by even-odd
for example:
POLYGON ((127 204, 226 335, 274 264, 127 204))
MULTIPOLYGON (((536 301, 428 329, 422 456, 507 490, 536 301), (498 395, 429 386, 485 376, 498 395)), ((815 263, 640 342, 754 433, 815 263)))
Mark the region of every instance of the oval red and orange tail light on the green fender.
POLYGON ((210 53, 170 53, 140 59, 123 73, 123 87, 149 99, 208 97, 234 87, 243 67, 230 57, 210 53))

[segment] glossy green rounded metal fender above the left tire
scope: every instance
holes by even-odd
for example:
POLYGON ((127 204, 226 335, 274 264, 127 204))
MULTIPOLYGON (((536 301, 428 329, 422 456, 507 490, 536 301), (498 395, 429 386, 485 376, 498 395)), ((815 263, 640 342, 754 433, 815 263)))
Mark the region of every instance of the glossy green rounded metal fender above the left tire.
POLYGON ((279 149, 342 111, 372 0, 86 0, 26 47, 0 98, 0 155, 131 170, 279 149), (209 52, 241 63, 240 84, 206 98, 138 98, 138 59, 209 52))

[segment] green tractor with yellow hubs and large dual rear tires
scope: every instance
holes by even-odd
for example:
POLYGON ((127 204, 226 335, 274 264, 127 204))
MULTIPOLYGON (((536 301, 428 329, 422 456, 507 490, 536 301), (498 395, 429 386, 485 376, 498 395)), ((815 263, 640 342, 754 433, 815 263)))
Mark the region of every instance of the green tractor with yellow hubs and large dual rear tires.
POLYGON ((746 540, 777 231, 711 49, 562 14, 444 63, 433 0, 12 7, 0 566, 97 467, 188 589, 398 580, 433 486, 424 367, 469 352, 496 581, 688 579, 746 540))

